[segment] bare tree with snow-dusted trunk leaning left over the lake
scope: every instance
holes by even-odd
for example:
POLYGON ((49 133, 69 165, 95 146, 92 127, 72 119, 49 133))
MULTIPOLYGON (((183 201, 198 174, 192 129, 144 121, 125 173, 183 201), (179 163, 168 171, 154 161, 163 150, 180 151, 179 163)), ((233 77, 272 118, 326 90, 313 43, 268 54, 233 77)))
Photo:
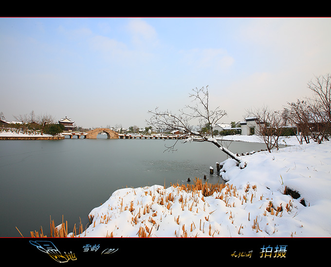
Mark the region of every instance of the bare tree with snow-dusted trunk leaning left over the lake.
MULTIPOLYGON (((168 110, 162 112, 158 107, 155 111, 149 111, 151 118, 147 121, 147 124, 160 132, 179 131, 182 133, 182 137, 186 138, 186 141, 210 142, 240 164, 242 162, 241 158, 224 148, 213 136, 212 127, 226 115, 226 112, 221 110, 220 107, 210 109, 208 86, 206 88, 193 89, 190 98, 193 98, 192 102, 195 102, 195 105, 186 105, 184 109, 179 110, 178 115, 168 110), (211 136, 199 132, 199 126, 193 126, 192 122, 200 125, 200 128, 202 125, 209 124, 211 127, 211 136), (193 137, 199 137, 199 139, 193 137)), ((173 150, 174 146, 169 147, 168 150, 173 150)))

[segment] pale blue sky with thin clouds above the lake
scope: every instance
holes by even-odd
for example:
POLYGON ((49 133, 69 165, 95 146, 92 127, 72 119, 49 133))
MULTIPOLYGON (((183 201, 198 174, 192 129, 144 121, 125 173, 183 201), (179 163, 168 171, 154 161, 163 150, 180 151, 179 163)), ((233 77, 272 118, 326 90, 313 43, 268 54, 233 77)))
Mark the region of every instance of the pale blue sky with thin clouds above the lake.
POLYGON ((0 112, 76 126, 145 128, 208 86, 212 108, 242 121, 310 96, 331 72, 331 18, 0 18, 0 112))

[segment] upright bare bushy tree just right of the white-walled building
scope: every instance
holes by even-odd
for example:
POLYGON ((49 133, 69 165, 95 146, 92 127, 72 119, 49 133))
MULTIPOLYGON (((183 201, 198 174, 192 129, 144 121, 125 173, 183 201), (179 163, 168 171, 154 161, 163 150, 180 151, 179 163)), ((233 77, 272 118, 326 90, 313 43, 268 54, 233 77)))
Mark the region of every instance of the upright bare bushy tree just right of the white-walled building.
POLYGON ((271 152, 274 148, 278 150, 278 141, 283 130, 282 113, 264 106, 248 111, 248 114, 257 118, 256 134, 264 141, 268 151, 271 152))

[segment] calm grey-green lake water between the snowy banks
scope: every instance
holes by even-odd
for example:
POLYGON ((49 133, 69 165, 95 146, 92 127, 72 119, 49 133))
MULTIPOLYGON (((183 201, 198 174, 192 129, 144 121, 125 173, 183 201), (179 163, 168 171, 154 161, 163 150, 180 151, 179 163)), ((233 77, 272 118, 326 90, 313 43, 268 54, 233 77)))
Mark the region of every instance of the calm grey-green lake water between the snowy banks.
MULTIPOLYGON (((109 199, 117 189, 154 184, 186 183, 188 177, 220 177, 216 162, 227 156, 206 142, 183 144, 164 152, 175 140, 155 139, 64 139, 0 141, 0 237, 24 237, 39 230, 49 236, 50 217, 55 225, 68 221, 88 223, 90 211, 109 199)), ((224 142, 232 152, 265 149, 264 144, 224 142)), ((220 181, 221 182, 221 181, 220 181)))

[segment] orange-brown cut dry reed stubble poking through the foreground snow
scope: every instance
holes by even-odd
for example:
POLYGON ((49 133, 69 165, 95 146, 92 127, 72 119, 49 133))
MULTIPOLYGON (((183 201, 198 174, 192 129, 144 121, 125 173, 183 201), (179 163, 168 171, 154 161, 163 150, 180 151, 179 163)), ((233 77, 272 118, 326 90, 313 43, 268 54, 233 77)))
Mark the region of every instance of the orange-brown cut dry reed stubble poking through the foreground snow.
MULTIPOLYGON (((210 184, 210 183, 203 183, 202 179, 196 178, 193 180, 193 183, 189 183, 189 184, 171 184, 171 187, 173 188, 173 192, 170 192, 168 194, 165 193, 165 191, 163 189, 158 188, 156 190, 156 192, 159 194, 158 196, 155 195, 155 191, 145 191, 145 195, 147 196, 148 194, 150 196, 152 196, 152 202, 156 202, 159 205, 164 206, 170 213, 170 215, 172 214, 172 210, 171 210, 171 206, 175 203, 175 201, 178 201, 181 203, 181 208, 184 211, 184 209, 187 209, 190 212, 196 212, 199 213, 199 208, 198 203, 199 201, 203 201, 203 211, 205 211, 205 208, 207 208, 209 206, 208 202, 206 201, 207 199, 205 199, 206 197, 210 197, 213 196, 216 199, 220 199, 222 201, 224 201, 225 205, 227 207, 234 207, 235 203, 231 200, 231 197, 235 197, 241 201, 241 204, 243 204, 244 202, 247 203, 250 199, 250 202, 253 203, 253 198, 255 198, 255 192, 256 192, 256 185, 250 186, 250 184, 247 184, 244 194, 240 195, 239 192, 236 189, 236 186, 232 185, 232 184, 210 184), (178 193, 178 195, 176 194, 176 192, 178 193), (250 192, 251 191, 251 192, 250 192), (252 192, 254 191, 254 192, 252 192), (188 193, 188 194, 182 194, 182 193, 188 193), (251 194, 250 198, 249 195, 251 194), (191 202, 190 202, 191 201, 191 202), (197 209, 193 209, 193 207, 196 206, 197 209)), ((165 188, 165 187, 164 187, 165 188)), ((134 191, 134 194, 136 194, 136 192, 134 191)), ((260 197, 260 200, 263 199, 263 195, 260 197)), ((128 203, 126 206, 124 206, 123 203, 123 198, 120 198, 120 203, 119 206, 113 206, 110 207, 110 210, 116 210, 118 209, 119 212, 122 212, 123 210, 129 210, 132 214, 132 218, 131 218, 131 224, 132 225, 137 225, 137 224, 142 224, 142 226, 139 227, 139 231, 137 233, 138 237, 151 237, 152 236, 152 230, 154 229, 154 232, 158 230, 159 225, 157 224, 158 219, 156 217, 158 217, 158 213, 156 211, 151 210, 151 204, 147 204, 147 205, 143 205, 143 203, 141 203, 141 207, 139 207, 139 211, 138 208, 136 208, 137 210, 135 210, 134 208, 134 203, 133 201, 130 201, 130 203, 128 203), (142 212, 141 212, 142 210, 142 212), (151 212, 151 214, 149 215, 149 219, 144 219, 144 221, 140 221, 140 218, 142 215, 148 216, 148 214, 151 212), (154 219, 155 218, 155 219, 154 219), (148 226, 145 224, 146 222, 150 223, 148 224, 148 226), (145 225, 144 225, 145 224, 145 225)), ((138 205, 139 204, 139 200, 138 200, 138 205)), ((289 212, 292 208, 292 203, 290 201, 290 203, 288 203, 286 205, 286 210, 289 212)), ((209 212, 209 214, 211 215, 212 213, 214 213, 214 211, 209 212)), ((273 207, 273 203, 272 201, 269 201, 269 205, 267 206, 267 209, 264 210, 264 215, 266 216, 266 212, 269 212, 271 215, 276 215, 276 216, 282 216, 282 212, 283 209, 280 205, 280 207, 274 208, 273 207)), ((162 215, 161 215, 162 217, 162 215)), ((104 223, 107 224, 110 221, 110 217, 108 214, 106 215, 102 215, 99 216, 100 221, 96 222, 96 220, 94 219, 94 217, 89 216, 89 221, 90 221, 90 225, 95 227, 96 223, 104 223)), ((175 222, 180 225, 180 216, 178 215, 178 217, 174 217, 175 222)), ((212 221, 212 219, 208 216, 204 217, 205 221, 209 223, 209 221, 212 221)), ((230 216, 229 219, 231 221, 231 223, 234 223, 234 216, 232 214, 232 212, 230 211, 230 216)), ((248 221, 250 221, 250 213, 248 213, 248 221)), ((194 222, 191 223, 190 226, 190 232, 196 232, 197 230, 201 231, 202 233, 205 232, 204 230, 204 224, 205 222, 202 220, 200 220, 200 227, 197 229, 194 222)), ((51 231, 50 231, 50 237, 68 237, 68 226, 67 226, 67 221, 64 223, 63 221, 63 217, 62 217, 62 223, 55 227, 54 224, 54 220, 51 220, 50 223, 50 227, 51 227, 51 231)), ((177 231, 175 231, 175 236, 181 236, 181 237, 187 237, 187 230, 185 229, 184 224, 181 225, 182 231, 180 231, 181 233, 177 231)), ((118 229, 118 228, 117 228, 118 229)), ((240 224, 239 227, 239 231, 238 234, 240 233, 240 230, 243 229, 242 224, 240 224)), ((86 229, 85 229, 86 230, 86 229)), ((259 229, 259 225, 257 222, 257 217, 256 219, 254 219, 253 225, 252 225, 252 230, 256 230, 261 231, 259 229)), ((19 231, 18 231, 19 232, 19 231)), ((20 233, 20 232, 19 232, 20 233)), ((35 232, 30 232, 31 233, 31 237, 47 237, 44 233, 42 228, 40 227, 40 231, 35 231, 35 232)), ((72 232, 72 234, 70 235, 70 237, 77 237, 80 234, 83 234, 83 225, 81 223, 81 220, 79 222, 78 225, 78 233, 76 231, 76 224, 74 225, 74 231, 72 232)), ((215 230, 212 232, 211 229, 211 225, 209 223, 209 236, 214 236, 215 233, 219 234, 219 231, 215 230)), ((86 234, 86 232, 85 232, 86 234)), ((111 232, 110 234, 107 232, 106 237, 113 237, 115 233, 111 232)), ((198 233, 192 233, 192 236, 195 235, 196 237, 199 235, 198 233)))

